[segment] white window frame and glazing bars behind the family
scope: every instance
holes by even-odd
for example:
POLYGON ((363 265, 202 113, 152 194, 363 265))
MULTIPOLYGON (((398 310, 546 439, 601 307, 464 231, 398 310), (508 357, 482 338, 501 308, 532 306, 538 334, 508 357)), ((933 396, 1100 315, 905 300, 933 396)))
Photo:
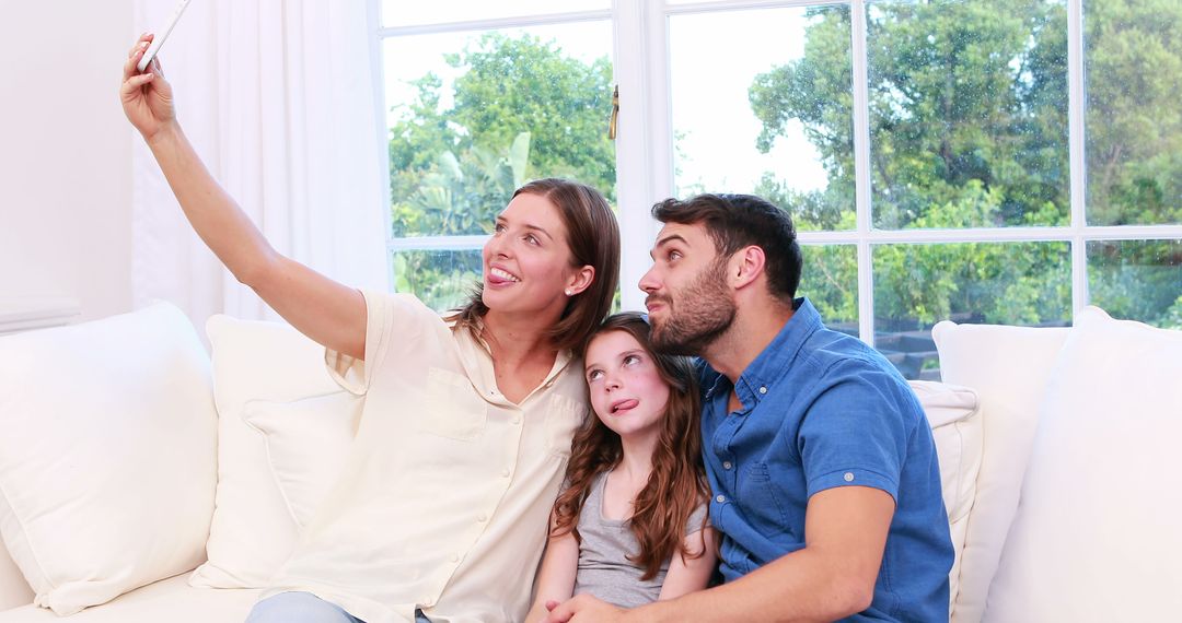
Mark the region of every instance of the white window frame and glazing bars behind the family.
MULTIPOLYGON (((1090 241, 1182 240, 1180 225, 1087 225, 1085 219, 1084 145, 1084 41, 1083 2, 1067 1, 1069 162, 1071 219, 1066 227, 974 229, 875 229, 870 212, 870 124, 868 117, 866 0, 712 0, 667 5, 662 0, 613 0, 611 9, 577 13, 460 21, 446 25, 385 28, 381 26, 381 0, 369 0, 376 25, 374 41, 375 84, 378 85, 379 118, 385 119, 382 40, 403 34, 428 34, 522 26, 611 20, 613 25, 615 81, 619 85, 619 132, 616 138, 617 202, 623 256, 621 299, 625 309, 643 309, 644 296, 636 288, 651 260, 649 249, 660 229, 650 206, 675 192, 671 98, 669 79, 669 18, 717 11, 850 6, 851 59, 853 70, 853 151, 856 159, 857 227, 849 231, 801 231, 801 244, 844 244, 857 248, 858 332, 873 345, 872 248, 894 243, 974 242, 1067 242, 1071 247, 1072 313, 1086 306, 1090 241), (629 59, 629 60, 621 60, 629 59), (641 61, 632 61, 641 59, 641 61)), ((382 153, 387 155, 384 124, 382 153)), ((389 169, 389 168, 387 168, 389 169)), ((719 189, 725 191, 726 189, 719 189)), ((389 185, 385 185, 389 195, 389 185)), ((384 211, 389 218, 389 197, 384 211)), ((461 250, 479 248, 485 236, 437 236, 392 238, 390 254, 398 250, 461 250)), ((388 262, 392 264, 392 262, 388 262)), ((391 281, 392 283, 392 281, 391 281)))

